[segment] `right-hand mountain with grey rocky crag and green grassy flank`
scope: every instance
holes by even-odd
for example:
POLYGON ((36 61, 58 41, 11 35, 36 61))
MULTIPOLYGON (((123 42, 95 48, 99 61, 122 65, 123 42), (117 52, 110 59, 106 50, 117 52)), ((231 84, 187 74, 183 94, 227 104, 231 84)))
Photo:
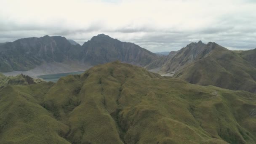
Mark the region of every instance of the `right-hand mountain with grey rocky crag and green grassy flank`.
POLYGON ((182 48, 164 69, 176 71, 174 77, 189 83, 256 93, 256 67, 253 66, 256 55, 253 51, 237 53, 211 42, 192 45, 195 47, 182 48))

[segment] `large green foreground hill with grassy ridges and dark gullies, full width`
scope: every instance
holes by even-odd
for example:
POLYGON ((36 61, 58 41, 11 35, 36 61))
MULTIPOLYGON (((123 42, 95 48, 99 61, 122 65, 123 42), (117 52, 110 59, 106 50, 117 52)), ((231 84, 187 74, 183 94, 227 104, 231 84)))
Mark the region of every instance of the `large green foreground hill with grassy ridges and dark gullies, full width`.
POLYGON ((130 64, 0 90, 0 143, 255 144, 256 94, 130 64))

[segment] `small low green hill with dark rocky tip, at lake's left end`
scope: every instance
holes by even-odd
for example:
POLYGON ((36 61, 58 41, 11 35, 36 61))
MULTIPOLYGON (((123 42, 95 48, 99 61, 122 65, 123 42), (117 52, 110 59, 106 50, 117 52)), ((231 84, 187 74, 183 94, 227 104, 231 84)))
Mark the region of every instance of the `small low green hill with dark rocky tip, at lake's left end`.
POLYGON ((31 85, 35 83, 44 83, 42 79, 32 78, 28 75, 5 76, 0 73, 0 88, 6 85, 31 85))

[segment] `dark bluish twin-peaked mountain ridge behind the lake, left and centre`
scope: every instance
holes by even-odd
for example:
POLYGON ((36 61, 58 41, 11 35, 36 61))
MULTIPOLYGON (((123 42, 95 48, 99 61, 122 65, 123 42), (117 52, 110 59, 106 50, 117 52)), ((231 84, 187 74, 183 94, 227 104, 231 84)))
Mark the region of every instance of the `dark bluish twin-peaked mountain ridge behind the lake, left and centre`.
POLYGON ((1 45, 0 72, 27 71, 45 62, 72 65, 72 61, 93 66, 120 60, 144 67, 158 57, 139 45, 121 42, 104 34, 94 36, 83 46, 72 45, 65 37, 46 35, 1 45))

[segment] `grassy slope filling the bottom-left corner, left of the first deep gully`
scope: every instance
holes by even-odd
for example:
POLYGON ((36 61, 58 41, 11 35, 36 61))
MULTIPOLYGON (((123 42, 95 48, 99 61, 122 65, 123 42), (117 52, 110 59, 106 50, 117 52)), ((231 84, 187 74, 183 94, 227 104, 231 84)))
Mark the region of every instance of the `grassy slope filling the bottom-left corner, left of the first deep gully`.
POLYGON ((55 120, 35 99, 51 86, 8 85, 0 91, 1 144, 69 144, 60 136, 67 133, 68 126, 55 120))

